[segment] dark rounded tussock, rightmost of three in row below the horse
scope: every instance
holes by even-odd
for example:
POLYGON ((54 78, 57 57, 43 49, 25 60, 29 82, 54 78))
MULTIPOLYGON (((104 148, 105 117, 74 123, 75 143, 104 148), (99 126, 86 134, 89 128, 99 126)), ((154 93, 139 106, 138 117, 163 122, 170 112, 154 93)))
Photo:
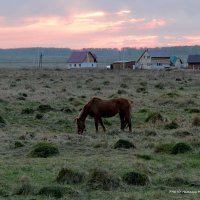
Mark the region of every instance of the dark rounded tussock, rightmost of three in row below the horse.
POLYGON ((123 175, 122 180, 128 185, 147 185, 149 183, 149 178, 146 174, 138 172, 128 172, 123 175))

